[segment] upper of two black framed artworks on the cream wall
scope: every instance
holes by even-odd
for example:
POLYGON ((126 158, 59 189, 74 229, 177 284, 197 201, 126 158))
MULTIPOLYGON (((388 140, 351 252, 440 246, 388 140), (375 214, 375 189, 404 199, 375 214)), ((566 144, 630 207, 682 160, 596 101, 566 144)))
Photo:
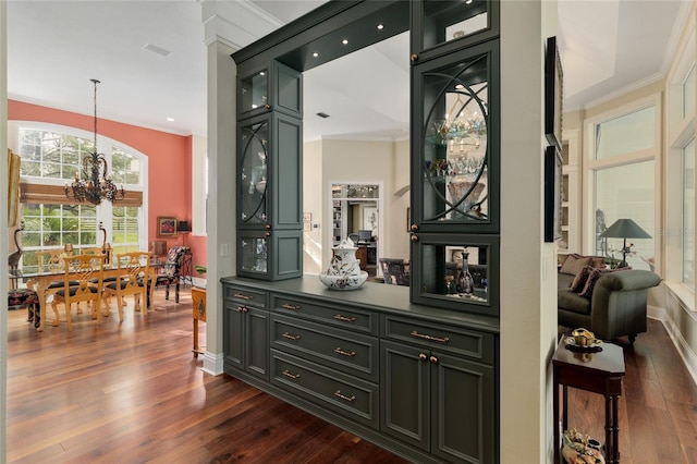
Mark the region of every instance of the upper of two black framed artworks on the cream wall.
POLYGON ((557 37, 547 38, 545 52, 545 135, 550 145, 562 149, 562 61, 557 37))

